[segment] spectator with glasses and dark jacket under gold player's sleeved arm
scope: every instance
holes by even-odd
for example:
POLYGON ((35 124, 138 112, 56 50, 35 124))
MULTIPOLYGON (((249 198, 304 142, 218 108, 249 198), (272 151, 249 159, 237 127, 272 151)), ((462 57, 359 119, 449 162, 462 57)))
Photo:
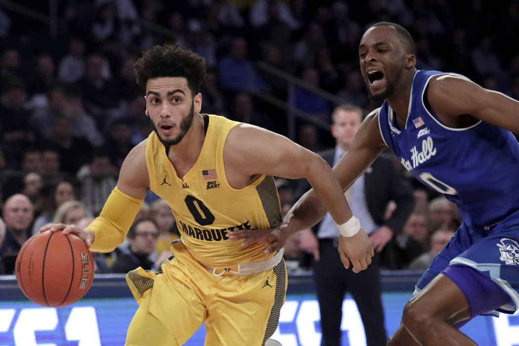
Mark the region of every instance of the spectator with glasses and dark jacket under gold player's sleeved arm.
POLYGON ((155 268, 151 259, 157 247, 159 230, 155 221, 151 218, 137 220, 126 236, 129 241, 128 248, 120 247, 121 253, 112 265, 114 273, 127 273, 138 267, 145 270, 155 268))

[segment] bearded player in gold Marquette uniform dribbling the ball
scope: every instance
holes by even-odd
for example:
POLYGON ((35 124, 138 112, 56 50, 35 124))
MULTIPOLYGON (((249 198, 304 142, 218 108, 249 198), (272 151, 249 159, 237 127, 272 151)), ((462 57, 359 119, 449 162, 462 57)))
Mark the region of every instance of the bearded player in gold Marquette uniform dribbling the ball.
POLYGON ((155 131, 128 154, 117 187, 86 230, 42 228, 75 233, 92 251, 109 252, 124 241, 148 189, 169 203, 182 236, 157 272, 128 273, 140 307, 127 345, 180 345, 203 322, 206 345, 265 344, 286 292, 283 253, 266 253, 261 244, 244 248, 229 234, 281 222, 273 176, 307 178, 349 236, 345 255, 353 270, 371 263, 370 241, 320 156, 267 130, 199 113, 202 57, 156 46, 136 62, 135 72, 155 131))

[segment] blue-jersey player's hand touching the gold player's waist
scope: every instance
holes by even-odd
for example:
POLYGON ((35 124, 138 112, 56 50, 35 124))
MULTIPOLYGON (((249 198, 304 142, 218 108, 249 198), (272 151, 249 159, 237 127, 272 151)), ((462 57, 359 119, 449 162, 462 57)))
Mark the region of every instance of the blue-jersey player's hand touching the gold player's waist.
POLYGON ((243 229, 231 232, 229 234, 229 239, 232 240, 240 240, 244 239, 245 241, 240 245, 242 247, 247 247, 254 243, 265 244, 265 254, 270 254, 278 251, 285 245, 286 239, 290 234, 283 232, 280 230, 280 227, 275 228, 264 228, 264 229, 243 229))

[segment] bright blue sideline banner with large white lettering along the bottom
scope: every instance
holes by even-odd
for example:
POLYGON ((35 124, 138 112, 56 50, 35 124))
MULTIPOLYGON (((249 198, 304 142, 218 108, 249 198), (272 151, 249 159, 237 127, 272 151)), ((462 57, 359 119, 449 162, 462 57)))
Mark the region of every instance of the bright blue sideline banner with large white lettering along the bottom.
MULTIPOLYGON (((385 292, 386 329, 397 329, 411 292, 385 292)), ((63 308, 44 308, 27 300, 0 301, 0 346, 123 345, 137 304, 133 298, 87 298, 63 308)), ((355 302, 343 302, 343 345, 365 345, 364 328, 355 302)), ((318 346, 321 339, 319 305, 314 295, 289 294, 272 337, 283 346, 318 346)), ((499 318, 479 316, 462 327, 477 344, 519 344, 519 314, 499 318)), ((186 343, 203 345, 204 326, 186 343)))

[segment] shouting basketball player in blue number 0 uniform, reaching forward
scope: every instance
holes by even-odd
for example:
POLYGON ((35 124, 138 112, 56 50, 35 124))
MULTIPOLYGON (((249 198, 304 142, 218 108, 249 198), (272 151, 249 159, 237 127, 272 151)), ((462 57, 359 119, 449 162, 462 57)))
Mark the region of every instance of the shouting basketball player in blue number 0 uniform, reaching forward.
MULTIPOLYGON (((475 345, 460 326, 519 305, 519 144, 512 134, 519 133, 519 102, 458 74, 418 71, 413 39, 398 24, 372 25, 359 58, 372 99, 385 101, 334 167, 343 189, 389 146, 416 178, 455 202, 463 220, 416 284, 388 344, 475 345)), ((233 238, 248 238, 244 246, 267 241, 274 251, 324 215, 310 190, 275 232, 233 238)))

